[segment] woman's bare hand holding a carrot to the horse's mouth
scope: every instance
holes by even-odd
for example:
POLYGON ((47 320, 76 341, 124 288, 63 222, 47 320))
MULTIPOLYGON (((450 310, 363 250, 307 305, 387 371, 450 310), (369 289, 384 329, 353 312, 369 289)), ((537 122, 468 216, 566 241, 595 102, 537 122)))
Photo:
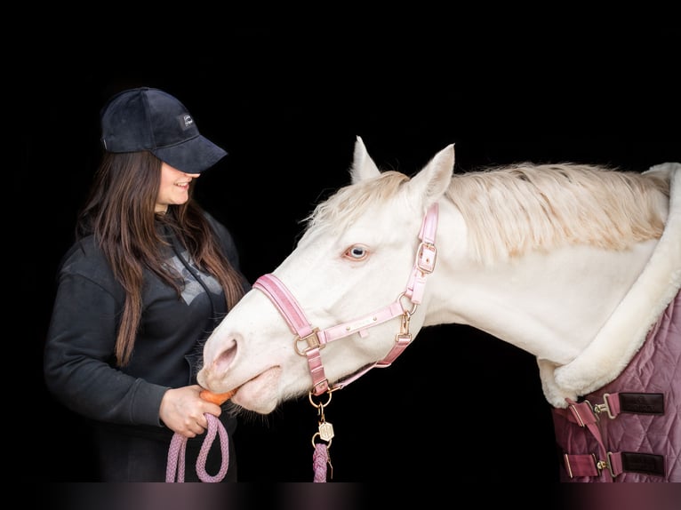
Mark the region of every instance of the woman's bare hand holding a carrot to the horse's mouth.
POLYGON ((185 437, 196 437, 204 434, 208 420, 204 413, 220 416, 220 406, 201 398, 198 385, 172 388, 165 392, 161 400, 158 416, 173 432, 185 437))

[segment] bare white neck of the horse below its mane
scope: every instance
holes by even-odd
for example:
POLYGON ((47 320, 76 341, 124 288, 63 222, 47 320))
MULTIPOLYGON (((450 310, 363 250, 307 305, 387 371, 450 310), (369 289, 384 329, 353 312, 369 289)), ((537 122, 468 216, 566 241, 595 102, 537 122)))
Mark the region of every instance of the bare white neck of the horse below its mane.
POLYGON ((655 245, 630 251, 568 246, 484 267, 469 259, 464 240, 461 216, 442 208, 423 325, 468 324, 560 364, 596 337, 655 245))

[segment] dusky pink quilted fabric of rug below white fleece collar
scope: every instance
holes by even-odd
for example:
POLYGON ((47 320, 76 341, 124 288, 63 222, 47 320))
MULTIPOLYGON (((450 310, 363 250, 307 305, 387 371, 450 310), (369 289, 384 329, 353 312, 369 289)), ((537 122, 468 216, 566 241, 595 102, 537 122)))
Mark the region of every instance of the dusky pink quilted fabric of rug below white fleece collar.
MULTIPOLYGON (((622 453, 623 472, 614 479, 609 469, 599 475, 570 477, 563 482, 681 482, 681 292, 669 303, 649 331, 643 347, 617 379, 584 395, 592 405, 605 394, 619 394, 621 412, 614 418, 599 413, 596 426, 608 452, 622 453), (622 395, 624 394, 624 395, 622 395), (611 480, 607 480, 610 477, 611 480)), ((589 429, 570 417, 569 410, 554 409, 560 450, 569 454, 594 454, 599 445, 589 429)))

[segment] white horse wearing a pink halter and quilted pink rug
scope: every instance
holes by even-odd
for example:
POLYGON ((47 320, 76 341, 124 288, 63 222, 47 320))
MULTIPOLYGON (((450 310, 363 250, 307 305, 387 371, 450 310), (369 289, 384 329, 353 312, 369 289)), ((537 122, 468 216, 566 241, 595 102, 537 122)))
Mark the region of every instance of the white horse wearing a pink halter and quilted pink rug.
POLYGON ((680 482, 681 432, 664 417, 681 399, 681 164, 453 164, 449 146, 411 179, 381 172, 358 138, 352 184, 212 333, 199 383, 268 414, 389 366, 423 327, 469 324, 536 356, 565 480, 680 482), (648 364, 613 387, 648 344, 648 364))

